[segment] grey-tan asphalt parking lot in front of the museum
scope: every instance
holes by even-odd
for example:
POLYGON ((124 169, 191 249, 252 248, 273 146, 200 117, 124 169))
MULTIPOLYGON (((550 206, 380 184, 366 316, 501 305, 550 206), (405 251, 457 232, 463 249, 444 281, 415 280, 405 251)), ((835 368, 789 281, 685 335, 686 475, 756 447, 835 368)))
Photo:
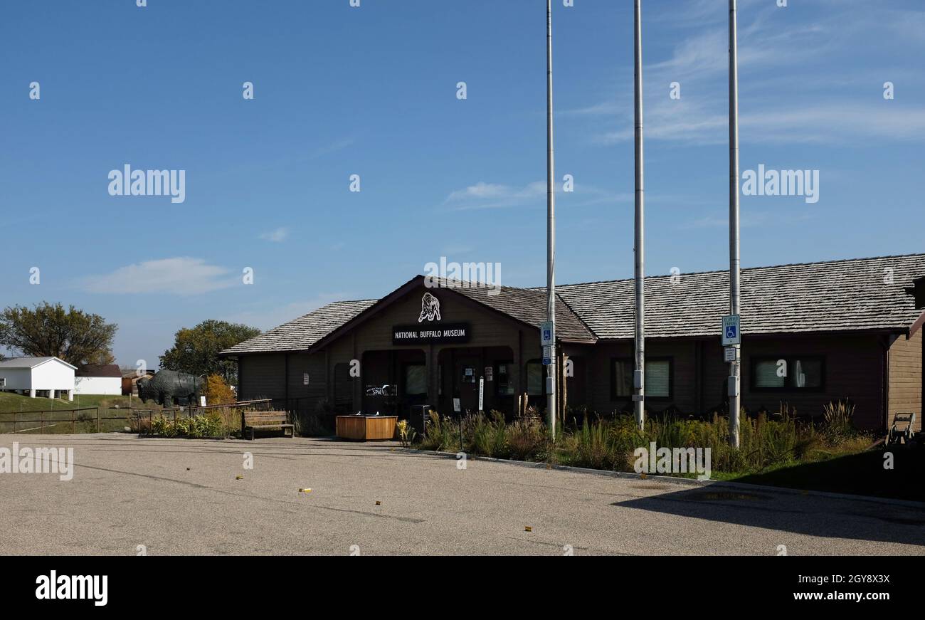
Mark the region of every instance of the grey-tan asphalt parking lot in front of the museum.
POLYGON ((69 481, 0 473, 3 554, 925 555, 925 510, 889 502, 461 469, 394 443, 108 433, 0 447, 13 441, 73 446, 75 468, 69 481))

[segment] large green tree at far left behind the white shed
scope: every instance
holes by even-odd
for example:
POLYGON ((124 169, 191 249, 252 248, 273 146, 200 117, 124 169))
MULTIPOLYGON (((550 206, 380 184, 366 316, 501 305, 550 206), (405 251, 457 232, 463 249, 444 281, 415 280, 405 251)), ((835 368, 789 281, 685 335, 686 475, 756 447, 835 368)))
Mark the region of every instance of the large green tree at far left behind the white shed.
POLYGON ((27 356, 55 355, 68 364, 112 364, 118 326, 61 304, 8 306, 0 314, 0 345, 27 356))

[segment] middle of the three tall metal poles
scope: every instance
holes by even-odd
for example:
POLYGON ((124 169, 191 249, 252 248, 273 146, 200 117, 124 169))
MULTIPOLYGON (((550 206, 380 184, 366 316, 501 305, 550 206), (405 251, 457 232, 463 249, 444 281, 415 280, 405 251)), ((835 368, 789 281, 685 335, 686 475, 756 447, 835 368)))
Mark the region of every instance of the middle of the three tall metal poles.
POLYGON ((646 425, 646 199, 642 140, 642 7, 635 0, 635 372, 636 426, 646 425))

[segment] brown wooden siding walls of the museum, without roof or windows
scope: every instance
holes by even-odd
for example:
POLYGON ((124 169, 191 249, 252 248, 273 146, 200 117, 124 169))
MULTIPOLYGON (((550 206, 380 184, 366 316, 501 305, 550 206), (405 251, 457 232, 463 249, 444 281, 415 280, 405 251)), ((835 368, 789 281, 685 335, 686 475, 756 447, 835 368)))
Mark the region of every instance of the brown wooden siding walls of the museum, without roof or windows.
MULTIPOLYGON (((333 403, 334 366, 349 364, 353 359, 363 360, 366 351, 388 351, 392 347, 392 327, 413 325, 421 310, 421 296, 425 289, 411 291, 403 299, 380 312, 351 333, 346 333, 327 345, 327 351, 306 353, 261 353, 240 357, 240 398, 258 397, 307 399, 309 411, 321 401, 333 403), (288 363, 287 363, 288 357, 288 363), (289 376, 286 377, 286 368, 289 376), (309 373, 309 385, 303 385, 303 374, 309 373)), ((431 360, 437 360, 441 351, 450 348, 478 348, 507 346, 511 348, 514 367, 515 393, 526 390, 524 365, 540 355, 537 329, 529 329, 499 316, 452 291, 431 290, 440 300, 442 323, 464 322, 472 330, 470 341, 459 345, 402 346, 395 349, 418 349, 431 360)), ((858 428, 883 428, 883 405, 888 402, 890 420, 897 412, 914 411, 916 427, 922 416, 922 333, 910 340, 898 337, 889 350, 889 391, 883 384, 885 337, 861 335, 805 335, 747 337, 742 367, 743 404, 750 411, 765 408, 777 411, 780 404, 788 403, 798 415, 821 415, 822 406, 829 401, 849 399, 855 404, 855 424, 858 428), (775 356, 822 356, 825 360, 822 390, 756 391, 751 381, 752 358, 775 356)), ((627 399, 611 397, 611 360, 614 357, 632 358, 630 341, 604 342, 595 345, 567 344, 563 351, 574 358, 576 376, 570 380, 569 406, 583 404, 598 413, 632 410, 627 399), (580 382, 580 383, 579 383, 580 382), (580 384, 580 388, 578 385, 580 384), (584 392, 584 402, 579 402, 584 392)), ((719 338, 702 340, 652 339, 646 343, 649 358, 672 358, 672 397, 650 399, 648 410, 660 412, 674 406, 683 412, 708 414, 722 407, 726 401, 726 378, 729 366, 722 361, 719 338)), ((451 385, 450 367, 444 367, 444 398, 451 385)), ((364 401, 365 379, 351 379, 352 409, 361 409, 364 401)), ((438 378, 436 369, 428 372, 428 386, 436 399, 438 378)), ((486 386, 487 393, 494 386, 486 386)), ((490 399, 487 399, 490 401, 490 399)), ((516 400, 515 400, 516 402, 516 400)), ((436 404, 432 403, 432 404, 436 404)))

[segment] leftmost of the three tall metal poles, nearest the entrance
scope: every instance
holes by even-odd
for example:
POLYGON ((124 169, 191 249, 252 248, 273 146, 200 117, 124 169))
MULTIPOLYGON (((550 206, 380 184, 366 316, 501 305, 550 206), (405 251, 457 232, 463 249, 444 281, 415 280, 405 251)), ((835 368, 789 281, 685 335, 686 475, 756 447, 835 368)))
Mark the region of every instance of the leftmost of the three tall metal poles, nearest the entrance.
POLYGON ((552 154, 552 0, 546 0, 546 320, 552 323, 552 355, 546 366, 549 435, 556 439, 556 188, 552 154))

